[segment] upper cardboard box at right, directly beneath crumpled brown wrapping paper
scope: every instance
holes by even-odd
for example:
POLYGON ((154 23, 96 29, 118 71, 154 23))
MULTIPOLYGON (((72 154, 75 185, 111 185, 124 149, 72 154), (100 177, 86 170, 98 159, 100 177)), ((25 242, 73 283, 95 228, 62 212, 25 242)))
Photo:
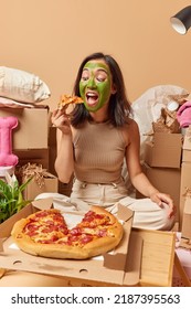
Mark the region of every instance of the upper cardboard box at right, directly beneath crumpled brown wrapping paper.
POLYGON ((144 160, 150 167, 180 168, 182 135, 156 132, 153 140, 146 142, 144 160))

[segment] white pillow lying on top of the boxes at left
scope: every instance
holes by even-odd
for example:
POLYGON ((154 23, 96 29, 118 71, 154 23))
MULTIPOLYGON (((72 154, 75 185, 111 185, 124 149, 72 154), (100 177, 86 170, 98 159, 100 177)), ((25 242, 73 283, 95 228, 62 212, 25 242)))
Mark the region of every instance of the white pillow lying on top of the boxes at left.
POLYGON ((23 103, 47 99, 51 92, 39 76, 6 66, 0 66, 0 96, 23 103))

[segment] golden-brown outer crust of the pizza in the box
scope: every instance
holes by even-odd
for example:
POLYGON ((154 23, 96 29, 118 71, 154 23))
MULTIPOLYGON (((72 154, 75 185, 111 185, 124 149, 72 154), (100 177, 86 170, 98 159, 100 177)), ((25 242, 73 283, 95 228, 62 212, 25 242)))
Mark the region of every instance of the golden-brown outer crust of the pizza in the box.
POLYGON ((24 226, 29 223, 29 217, 18 221, 11 232, 11 235, 23 252, 43 257, 51 258, 71 258, 71 259, 86 259, 93 256, 102 255, 108 251, 114 249, 121 241, 124 228, 118 220, 102 209, 100 206, 92 206, 92 211, 98 214, 109 216, 112 225, 109 225, 109 234, 112 236, 104 236, 85 244, 83 247, 65 244, 41 244, 35 243, 29 235, 23 233, 24 226))

